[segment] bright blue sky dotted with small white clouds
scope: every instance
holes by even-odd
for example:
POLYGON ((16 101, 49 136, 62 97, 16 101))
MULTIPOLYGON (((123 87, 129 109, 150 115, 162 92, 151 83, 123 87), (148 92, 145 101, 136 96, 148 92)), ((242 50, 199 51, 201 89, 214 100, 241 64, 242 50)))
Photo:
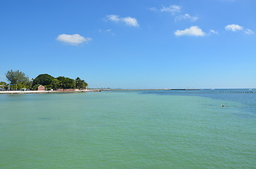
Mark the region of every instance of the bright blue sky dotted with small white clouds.
POLYGON ((1 0, 8 70, 89 87, 256 88, 255 0, 1 0))

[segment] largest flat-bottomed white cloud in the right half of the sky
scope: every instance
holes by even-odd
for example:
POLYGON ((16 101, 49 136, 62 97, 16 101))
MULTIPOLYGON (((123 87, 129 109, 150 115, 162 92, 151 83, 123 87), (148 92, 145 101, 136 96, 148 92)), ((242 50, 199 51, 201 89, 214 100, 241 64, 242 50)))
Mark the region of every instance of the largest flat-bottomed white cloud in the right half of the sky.
POLYGON ((205 33, 198 27, 192 26, 185 30, 176 30, 174 33, 176 36, 195 36, 195 37, 204 37, 205 33))

